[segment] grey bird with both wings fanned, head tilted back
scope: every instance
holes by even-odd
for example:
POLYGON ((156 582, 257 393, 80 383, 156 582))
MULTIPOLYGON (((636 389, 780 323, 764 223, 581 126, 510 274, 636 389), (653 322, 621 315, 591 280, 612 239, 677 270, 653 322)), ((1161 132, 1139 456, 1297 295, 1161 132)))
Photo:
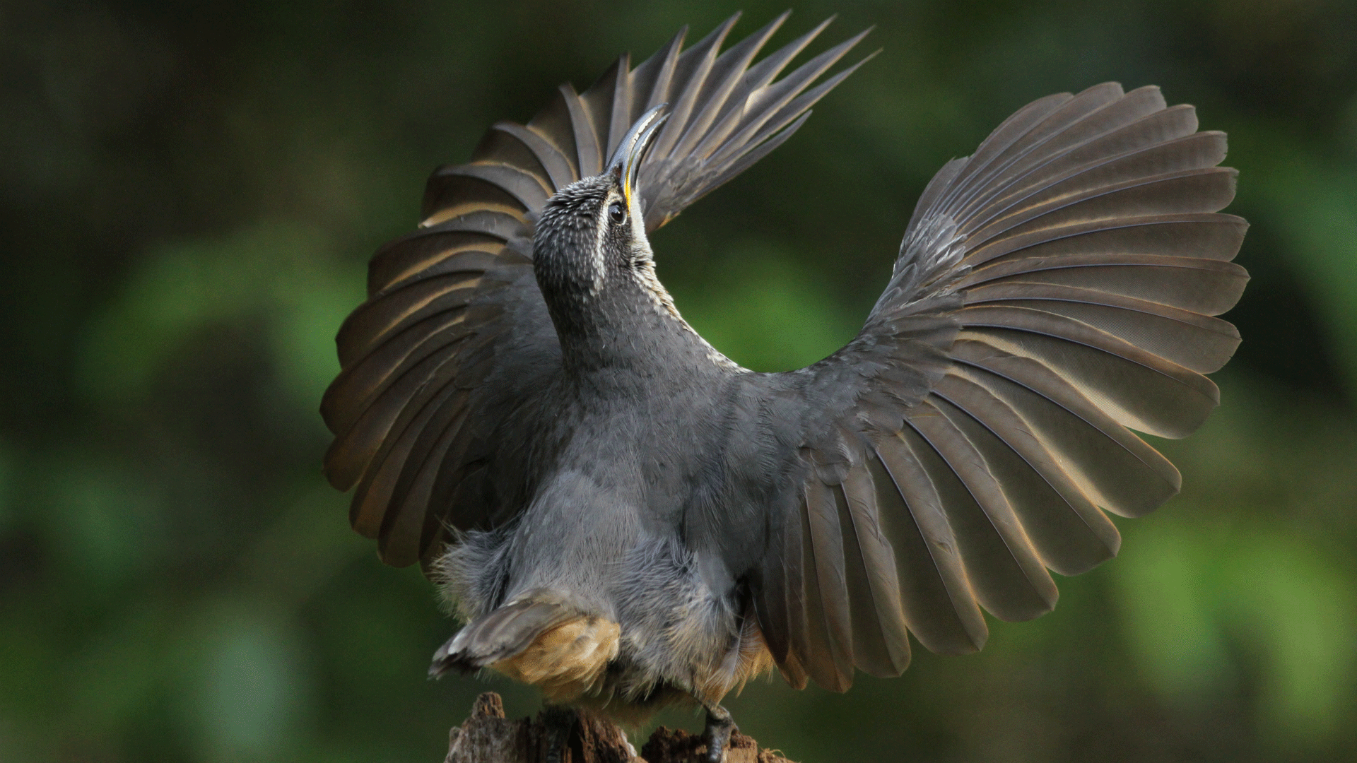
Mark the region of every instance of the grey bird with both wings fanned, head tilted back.
POLYGON ((436 170, 322 402, 354 529, 464 623, 430 675, 490 669, 624 724, 706 710, 712 763, 746 680, 845 691, 904 672, 911 634, 976 652, 982 612, 1042 615, 1050 572, 1114 557, 1107 515, 1182 482, 1139 433, 1217 406, 1206 373, 1240 341, 1217 316, 1248 280, 1225 134, 1103 83, 942 167, 845 346, 740 367, 649 236, 795 133, 867 33, 787 71, 829 20, 754 61, 787 14, 726 46, 737 19, 436 170))

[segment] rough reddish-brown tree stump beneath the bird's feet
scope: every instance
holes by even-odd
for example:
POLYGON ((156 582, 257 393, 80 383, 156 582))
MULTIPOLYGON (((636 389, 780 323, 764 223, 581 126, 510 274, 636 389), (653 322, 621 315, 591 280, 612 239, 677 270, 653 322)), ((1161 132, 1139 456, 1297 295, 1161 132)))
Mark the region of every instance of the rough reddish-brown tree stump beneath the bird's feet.
MULTIPOLYGON (((536 718, 505 718, 503 701, 487 691, 476 698, 471 715, 448 733, 444 763, 546 763, 551 721, 543 710, 536 718)), ((563 725, 563 724, 562 724, 563 725)), ((627 734, 597 715, 574 713, 560 763, 693 763, 707 745, 697 734, 660 726, 636 755, 627 734)), ((726 748, 726 763, 791 763, 760 749, 753 739, 735 732, 726 748)))

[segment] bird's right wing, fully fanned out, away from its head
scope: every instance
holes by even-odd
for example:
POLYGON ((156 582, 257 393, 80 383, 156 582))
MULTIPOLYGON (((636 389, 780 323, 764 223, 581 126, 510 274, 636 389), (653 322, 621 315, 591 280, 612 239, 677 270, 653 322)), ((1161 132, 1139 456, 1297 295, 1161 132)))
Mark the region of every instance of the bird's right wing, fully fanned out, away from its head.
POLYGON ((756 565, 794 684, 898 675, 906 631, 980 649, 981 608, 1049 611, 1048 569, 1113 557, 1105 515, 1179 474, 1133 430, 1183 437, 1239 334, 1235 171, 1190 106, 1114 83, 1031 103, 928 185, 858 338, 767 382, 803 406, 803 483, 756 565))

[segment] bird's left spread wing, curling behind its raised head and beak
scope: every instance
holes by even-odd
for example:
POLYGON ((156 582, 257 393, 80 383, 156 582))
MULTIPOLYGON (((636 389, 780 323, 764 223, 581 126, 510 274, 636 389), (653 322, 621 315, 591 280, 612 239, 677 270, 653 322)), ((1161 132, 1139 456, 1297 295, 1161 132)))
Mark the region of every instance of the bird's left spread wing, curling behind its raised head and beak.
POLYGON ((527 125, 495 124, 468 164, 429 179, 419 229, 373 257, 320 410, 335 436, 326 475, 357 487, 350 520, 383 561, 427 561, 448 527, 494 527, 518 508, 489 459, 495 424, 559 368, 532 273, 547 198, 603 172, 631 124, 669 103, 638 183, 658 228, 790 137, 852 71, 816 84, 862 35, 776 79, 828 22, 753 64, 786 14, 721 53, 737 18, 687 50, 680 31, 634 69, 623 56, 584 94, 562 86, 527 125))

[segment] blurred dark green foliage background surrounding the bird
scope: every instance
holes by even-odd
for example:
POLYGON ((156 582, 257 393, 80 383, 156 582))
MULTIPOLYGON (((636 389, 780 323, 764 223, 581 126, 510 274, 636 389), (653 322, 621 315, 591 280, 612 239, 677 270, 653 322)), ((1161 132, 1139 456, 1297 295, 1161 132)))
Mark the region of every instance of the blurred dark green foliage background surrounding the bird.
MULTIPOLYGON (((783 1, 744 4, 748 34, 783 1)), ((441 760, 486 684, 320 475, 364 265, 429 170, 721 3, 0 3, 0 762, 441 760)), ((1357 7, 799 3, 883 53, 657 234, 759 369, 836 349, 915 198, 1014 109, 1160 84, 1231 137, 1254 276, 1185 489, 978 656, 729 706, 835 760, 1350 760, 1357 749, 1357 7)), ((776 41, 775 41, 776 42, 776 41)), ((535 711, 506 683, 513 714, 535 711)), ((668 724, 696 728, 670 714, 668 724)))

